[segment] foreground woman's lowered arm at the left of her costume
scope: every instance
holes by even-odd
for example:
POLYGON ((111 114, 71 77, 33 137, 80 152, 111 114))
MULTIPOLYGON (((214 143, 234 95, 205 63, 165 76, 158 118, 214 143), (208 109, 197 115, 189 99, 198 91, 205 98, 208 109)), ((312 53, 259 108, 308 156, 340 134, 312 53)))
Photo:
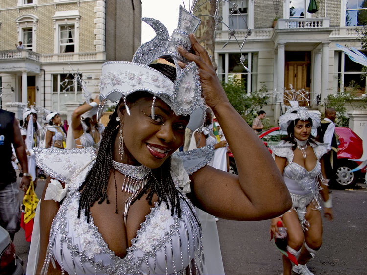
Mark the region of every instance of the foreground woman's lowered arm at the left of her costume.
MULTIPOLYGON (((52 221, 60 207, 59 203, 54 200, 45 200, 46 189, 50 181, 51 178, 48 177, 40 203, 40 253, 38 255, 36 274, 41 274, 41 269, 46 257, 52 221)), ((54 269, 52 264, 49 265, 48 274, 61 274, 61 268, 57 262, 56 269, 54 269)))

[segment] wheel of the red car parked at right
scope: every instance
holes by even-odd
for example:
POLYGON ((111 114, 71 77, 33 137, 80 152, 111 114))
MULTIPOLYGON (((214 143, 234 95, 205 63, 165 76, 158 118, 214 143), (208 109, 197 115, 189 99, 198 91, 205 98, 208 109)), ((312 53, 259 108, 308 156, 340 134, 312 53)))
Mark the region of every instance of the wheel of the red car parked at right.
POLYGON ((352 172, 357 164, 352 161, 338 161, 336 168, 336 187, 340 189, 352 188, 356 185, 357 172, 352 172))

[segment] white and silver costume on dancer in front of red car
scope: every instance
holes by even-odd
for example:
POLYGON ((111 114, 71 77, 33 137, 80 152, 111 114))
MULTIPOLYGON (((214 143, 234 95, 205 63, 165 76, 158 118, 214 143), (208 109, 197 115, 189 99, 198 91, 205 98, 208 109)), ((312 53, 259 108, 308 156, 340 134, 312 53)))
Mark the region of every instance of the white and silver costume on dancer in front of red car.
POLYGON ((321 173, 320 159, 327 153, 327 144, 325 143, 308 144, 313 148, 317 158, 316 165, 311 171, 307 171, 303 166, 293 162, 292 147, 294 144, 282 140, 278 145, 271 146, 274 155, 286 158, 288 161, 283 171, 283 178, 292 197, 292 208, 296 210, 303 229, 308 226, 305 219, 307 205, 314 201, 315 207, 321 209, 319 204, 319 191, 321 190, 319 180, 323 182, 325 180, 321 173))

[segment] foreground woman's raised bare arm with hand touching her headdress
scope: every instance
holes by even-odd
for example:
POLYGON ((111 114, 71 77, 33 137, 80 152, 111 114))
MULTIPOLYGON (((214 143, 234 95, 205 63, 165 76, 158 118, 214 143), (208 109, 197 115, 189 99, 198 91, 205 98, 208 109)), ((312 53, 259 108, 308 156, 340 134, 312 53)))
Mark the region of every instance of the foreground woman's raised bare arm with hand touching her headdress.
MULTIPOLYGON (((191 34, 195 52, 178 50, 199 68, 203 95, 222 127, 236 161, 238 176, 204 167, 192 175, 196 203, 206 212, 235 220, 261 220, 291 207, 282 175, 263 142, 231 106, 206 50, 191 34)), ((184 63, 180 63, 184 66, 184 63)))

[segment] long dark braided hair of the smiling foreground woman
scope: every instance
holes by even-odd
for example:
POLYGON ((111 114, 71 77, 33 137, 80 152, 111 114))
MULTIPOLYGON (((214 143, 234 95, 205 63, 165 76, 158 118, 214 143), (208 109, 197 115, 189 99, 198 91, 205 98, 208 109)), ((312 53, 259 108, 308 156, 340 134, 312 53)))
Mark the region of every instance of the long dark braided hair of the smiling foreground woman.
MULTIPOLYGON (((157 65, 158 64, 156 64, 155 69, 163 68, 160 71, 174 81, 173 79, 176 78, 176 74, 171 68, 169 68, 170 66, 163 64, 157 65)), ((126 101, 131 107, 139 98, 144 96, 153 97, 152 94, 147 92, 135 92, 129 95, 126 98, 126 101)), ((120 125, 120 123, 116 121, 117 110, 118 107, 115 108, 115 111, 103 132, 102 140, 97 153, 97 159, 92 169, 86 176, 83 184, 79 188, 81 195, 79 199, 78 218, 80 217, 81 210, 84 209, 84 215, 87 216, 87 222, 89 222, 90 219, 90 207, 93 206, 94 202, 99 200, 98 203, 101 204, 104 200, 106 200, 106 203, 110 203, 107 196, 107 185, 110 171, 111 169, 114 169, 112 166, 112 155, 114 150, 114 141, 118 133, 118 126, 120 125)), ((151 170, 146 185, 138 193, 137 197, 131 202, 131 204, 141 199, 144 194, 147 194, 146 200, 148 201, 149 205, 152 205, 153 195, 156 194, 158 197, 158 204, 161 205, 161 203, 164 202, 167 206, 167 209, 171 208, 171 215, 173 216, 174 213, 176 213, 180 218, 181 208, 179 197, 181 192, 176 189, 170 170, 171 157, 169 157, 161 165, 161 167, 151 170)))

